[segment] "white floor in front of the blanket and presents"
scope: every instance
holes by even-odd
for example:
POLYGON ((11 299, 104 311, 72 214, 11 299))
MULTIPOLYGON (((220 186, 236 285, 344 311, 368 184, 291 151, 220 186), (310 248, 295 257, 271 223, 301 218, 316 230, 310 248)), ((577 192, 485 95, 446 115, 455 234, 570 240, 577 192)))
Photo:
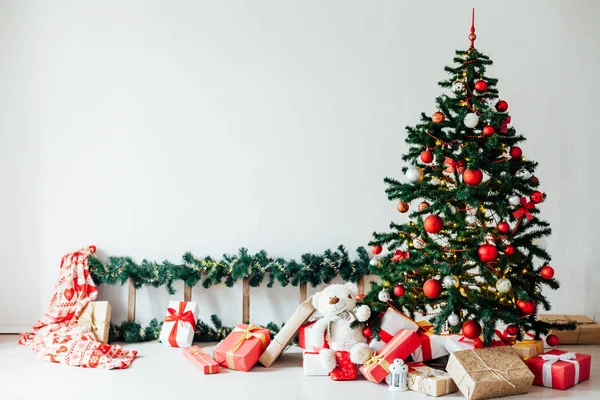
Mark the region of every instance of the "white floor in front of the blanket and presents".
MULTIPOLYGON (((334 382, 328 377, 302 373, 301 349, 291 348, 273 367, 256 366, 244 373, 222 368, 216 375, 203 375, 181 354, 160 343, 126 345, 139 351, 127 370, 100 371, 65 367, 39 361, 17 344, 13 335, 0 336, 0 399, 424 399, 416 392, 392 394, 385 384, 365 380, 334 382)), ((212 350, 213 346, 201 343, 212 350)), ((533 386, 519 399, 600 398, 600 346, 565 346, 592 355, 592 379, 568 391, 533 386)), ((462 398, 460 393, 444 398, 462 398)), ((514 397, 517 399, 517 397, 514 397)))

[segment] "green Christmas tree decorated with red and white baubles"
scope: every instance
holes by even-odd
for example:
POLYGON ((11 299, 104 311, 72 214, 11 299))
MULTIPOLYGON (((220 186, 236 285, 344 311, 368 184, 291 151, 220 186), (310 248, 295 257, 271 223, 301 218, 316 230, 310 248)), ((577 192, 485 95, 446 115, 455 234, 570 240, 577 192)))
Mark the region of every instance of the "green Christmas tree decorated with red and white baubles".
POLYGON ((573 328, 536 319, 538 308, 550 309, 542 288, 559 287, 544 239, 550 225, 539 218, 545 194, 475 39, 473 24, 470 48, 445 67, 438 111, 406 128, 405 178, 385 178, 388 198, 411 221, 392 222, 370 243, 372 273, 382 278, 363 298, 375 337, 388 307, 429 316, 435 333, 483 334, 486 345, 504 324, 519 340, 573 328))

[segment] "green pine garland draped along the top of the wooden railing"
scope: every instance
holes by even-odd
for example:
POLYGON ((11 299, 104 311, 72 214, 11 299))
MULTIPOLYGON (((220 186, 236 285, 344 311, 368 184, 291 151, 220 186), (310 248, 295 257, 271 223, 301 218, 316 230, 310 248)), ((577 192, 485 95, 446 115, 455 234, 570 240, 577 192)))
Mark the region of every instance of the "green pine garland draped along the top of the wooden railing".
POLYGON ((194 287, 205 275, 202 286, 224 283, 232 287, 237 281, 250 278, 250 286, 259 286, 268 275, 267 287, 274 282, 282 286, 298 286, 310 283, 317 286, 329 283, 336 276, 345 281, 358 282, 369 273, 369 254, 364 247, 356 249, 358 259, 351 261, 344 246, 335 251, 326 250, 323 254, 306 253, 300 261, 272 258, 263 250, 254 255, 248 249, 241 248, 236 255, 223 255, 221 260, 211 257, 197 258, 185 253, 181 264, 169 261, 155 262, 142 260, 136 263, 131 257, 109 257, 107 262, 91 256, 89 267, 92 278, 97 284, 124 284, 133 278, 136 288, 144 285, 165 286, 169 294, 174 294, 173 283, 181 280, 187 286, 194 287))

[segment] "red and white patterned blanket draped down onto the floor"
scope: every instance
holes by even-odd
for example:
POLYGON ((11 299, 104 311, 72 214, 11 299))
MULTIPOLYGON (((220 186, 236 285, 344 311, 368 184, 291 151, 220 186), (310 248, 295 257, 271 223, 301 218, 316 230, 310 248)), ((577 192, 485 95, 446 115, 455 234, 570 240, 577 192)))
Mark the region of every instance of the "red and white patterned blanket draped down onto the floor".
POLYGON ((90 246, 62 258, 48 311, 33 326, 33 332, 22 333, 19 338, 19 344, 29 346, 37 358, 103 369, 127 368, 135 358, 137 351, 97 342, 93 333, 78 329, 81 311, 98 297, 88 269, 88 257, 95 251, 96 247, 90 246))

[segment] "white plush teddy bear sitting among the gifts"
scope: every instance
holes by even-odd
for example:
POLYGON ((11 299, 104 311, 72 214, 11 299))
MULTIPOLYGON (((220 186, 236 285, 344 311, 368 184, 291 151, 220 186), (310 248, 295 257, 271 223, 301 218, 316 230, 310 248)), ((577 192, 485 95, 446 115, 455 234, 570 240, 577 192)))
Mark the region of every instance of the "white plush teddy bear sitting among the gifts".
POLYGON ((356 364, 364 364, 373 351, 362 333, 362 324, 351 327, 353 321, 365 322, 371 316, 368 306, 356 306, 357 296, 355 283, 329 285, 313 295, 313 306, 323 318, 315 322, 312 340, 317 347, 329 346, 319 355, 333 380, 356 379, 356 364))

